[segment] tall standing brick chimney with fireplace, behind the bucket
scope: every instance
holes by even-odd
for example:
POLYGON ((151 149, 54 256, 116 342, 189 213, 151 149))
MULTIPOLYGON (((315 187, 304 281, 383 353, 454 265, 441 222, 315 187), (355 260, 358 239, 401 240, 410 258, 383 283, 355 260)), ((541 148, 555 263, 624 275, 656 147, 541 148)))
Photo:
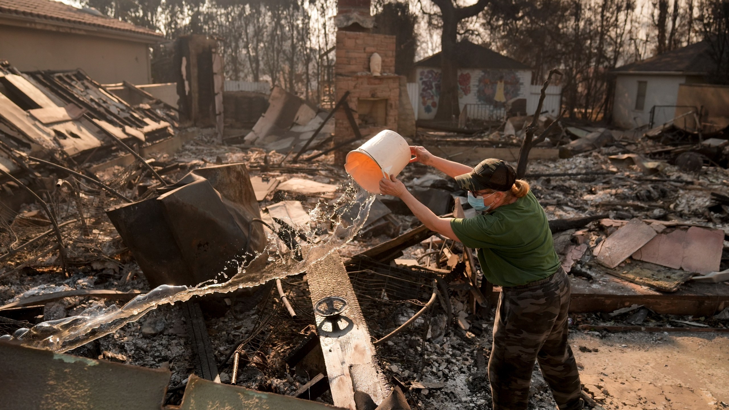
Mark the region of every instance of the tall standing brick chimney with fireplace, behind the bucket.
MULTIPOLYGON (((339 0, 337 9, 336 100, 349 91, 347 103, 365 139, 384 129, 397 131, 400 76, 394 74, 395 36, 370 32, 374 26, 370 0, 339 0), (370 72, 373 53, 382 58, 378 76, 370 72)), ((334 144, 353 138, 346 113, 340 109, 335 114, 334 144)), ((335 163, 343 164, 350 150, 347 147, 335 152, 335 163)))

